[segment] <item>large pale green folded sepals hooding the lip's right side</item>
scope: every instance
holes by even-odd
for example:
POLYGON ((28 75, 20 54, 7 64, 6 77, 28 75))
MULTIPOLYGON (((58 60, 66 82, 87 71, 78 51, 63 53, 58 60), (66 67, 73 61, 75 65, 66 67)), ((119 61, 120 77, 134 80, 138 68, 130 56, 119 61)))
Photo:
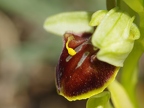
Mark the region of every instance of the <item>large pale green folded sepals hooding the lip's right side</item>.
MULTIPOLYGON (((94 19, 93 19, 94 20, 94 19)), ((134 40, 140 37, 133 24, 134 17, 117 9, 110 10, 92 35, 92 44, 99 48, 97 58, 114 66, 122 67, 131 52, 134 40)))

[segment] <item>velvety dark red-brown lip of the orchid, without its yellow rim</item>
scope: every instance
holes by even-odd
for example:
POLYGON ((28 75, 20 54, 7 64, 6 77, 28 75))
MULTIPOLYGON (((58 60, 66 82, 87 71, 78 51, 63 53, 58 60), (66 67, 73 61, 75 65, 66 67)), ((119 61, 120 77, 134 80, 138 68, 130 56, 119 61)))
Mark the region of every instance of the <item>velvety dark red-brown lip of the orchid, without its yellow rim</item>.
POLYGON ((98 49, 90 41, 91 34, 64 35, 64 47, 56 67, 56 84, 58 92, 73 97, 101 88, 114 74, 116 67, 99 61, 98 49), (68 46, 76 51, 71 56, 66 49, 68 38, 73 36, 68 46))

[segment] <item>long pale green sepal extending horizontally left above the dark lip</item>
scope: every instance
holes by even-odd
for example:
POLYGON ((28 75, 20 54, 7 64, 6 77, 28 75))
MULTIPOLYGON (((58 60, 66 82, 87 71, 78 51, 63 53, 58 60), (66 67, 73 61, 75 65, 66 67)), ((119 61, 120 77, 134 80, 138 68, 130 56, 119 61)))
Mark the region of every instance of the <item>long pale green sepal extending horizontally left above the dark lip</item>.
POLYGON ((48 17, 44 28, 56 35, 64 35, 66 32, 83 33, 93 32, 89 25, 91 13, 88 12, 67 12, 48 17))

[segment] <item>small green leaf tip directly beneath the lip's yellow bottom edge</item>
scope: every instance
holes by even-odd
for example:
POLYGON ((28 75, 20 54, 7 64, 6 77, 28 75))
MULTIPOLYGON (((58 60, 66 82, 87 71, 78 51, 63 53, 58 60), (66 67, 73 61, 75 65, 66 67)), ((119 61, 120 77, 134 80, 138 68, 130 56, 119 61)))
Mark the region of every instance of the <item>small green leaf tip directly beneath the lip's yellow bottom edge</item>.
POLYGON ((109 103, 110 92, 104 91, 100 94, 90 97, 86 103, 86 108, 112 108, 109 103))

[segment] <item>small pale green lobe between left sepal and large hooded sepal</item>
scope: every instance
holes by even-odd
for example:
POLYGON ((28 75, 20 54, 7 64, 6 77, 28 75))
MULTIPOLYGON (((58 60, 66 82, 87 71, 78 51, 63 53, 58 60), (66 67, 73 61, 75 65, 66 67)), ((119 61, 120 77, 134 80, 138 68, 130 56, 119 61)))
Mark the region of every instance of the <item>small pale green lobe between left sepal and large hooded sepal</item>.
POLYGON ((103 19, 103 17, 106 15, 107 11, 106 10, 99 10, 97 12, 95 12, 92 15, 91 21, 90 21, 90 25, 91 26, 97 26, 100 24, 101 20, 103 19))

